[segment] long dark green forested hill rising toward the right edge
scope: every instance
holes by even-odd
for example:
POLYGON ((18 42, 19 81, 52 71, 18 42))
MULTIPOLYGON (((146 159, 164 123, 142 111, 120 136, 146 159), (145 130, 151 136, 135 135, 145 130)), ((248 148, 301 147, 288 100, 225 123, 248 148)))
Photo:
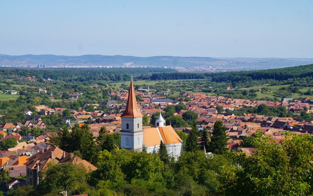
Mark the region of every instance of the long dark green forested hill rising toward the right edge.
POLYGON ((204 79, 212 77, 213 82, 246 82, 250 80, 275 79, 277 81, 289 78, 312 77, 313 64, 280 69, 268 69, 259 71, 241 72, 204 72, 204 73, 154 73, 151 80, 172 80, 172 79, 204 79))

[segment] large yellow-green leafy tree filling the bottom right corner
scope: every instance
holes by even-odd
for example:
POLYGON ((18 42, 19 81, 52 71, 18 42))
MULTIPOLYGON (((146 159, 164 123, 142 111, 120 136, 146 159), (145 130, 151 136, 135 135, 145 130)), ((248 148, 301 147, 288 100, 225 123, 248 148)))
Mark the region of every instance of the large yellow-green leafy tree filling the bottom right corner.
POLYGON ((277 145, 260 133, 255 142, 258 150, 252 156, 230 152, 233 164, 220 173, 221 188, 226 195, 304 196, 313 193, 310 180, 312 136, 287 134, 285 141, 277 145))

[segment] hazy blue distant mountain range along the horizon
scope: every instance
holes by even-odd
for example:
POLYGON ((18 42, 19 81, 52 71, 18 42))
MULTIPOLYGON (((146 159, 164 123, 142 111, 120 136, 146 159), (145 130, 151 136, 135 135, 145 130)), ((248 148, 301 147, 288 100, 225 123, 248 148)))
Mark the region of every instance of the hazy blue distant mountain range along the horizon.
POLYGON ((213 67, 234 70, 261 70, 312 64, 313 59, 304 58, 211 58, 180 56, 57 56, 57 55, 21 55, 0 54, 0 66, 156 66, 156 67, 213 67))

